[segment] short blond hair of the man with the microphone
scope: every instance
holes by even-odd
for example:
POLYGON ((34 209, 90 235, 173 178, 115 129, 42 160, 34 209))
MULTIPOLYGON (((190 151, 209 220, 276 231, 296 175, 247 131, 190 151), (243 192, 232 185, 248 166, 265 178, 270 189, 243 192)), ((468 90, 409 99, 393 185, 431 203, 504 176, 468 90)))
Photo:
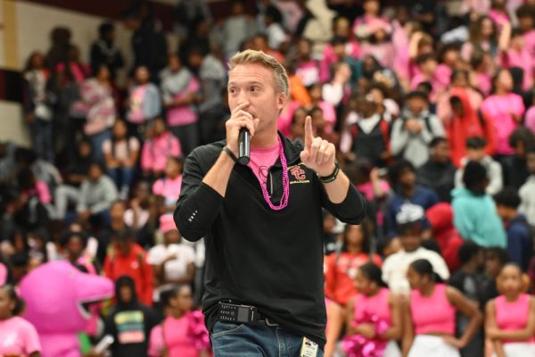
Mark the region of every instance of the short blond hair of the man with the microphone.
POLYGON ((267 67, 273 74, 276 89, 284 92, 286 96, 290 94, 290 84, 286 70, 284 70, 283 65, 277 62, 273 56, 255 50, 238 52, 228 62, 228 72, 230 73, 238 64, 243 63, 256 63, 267 67))

